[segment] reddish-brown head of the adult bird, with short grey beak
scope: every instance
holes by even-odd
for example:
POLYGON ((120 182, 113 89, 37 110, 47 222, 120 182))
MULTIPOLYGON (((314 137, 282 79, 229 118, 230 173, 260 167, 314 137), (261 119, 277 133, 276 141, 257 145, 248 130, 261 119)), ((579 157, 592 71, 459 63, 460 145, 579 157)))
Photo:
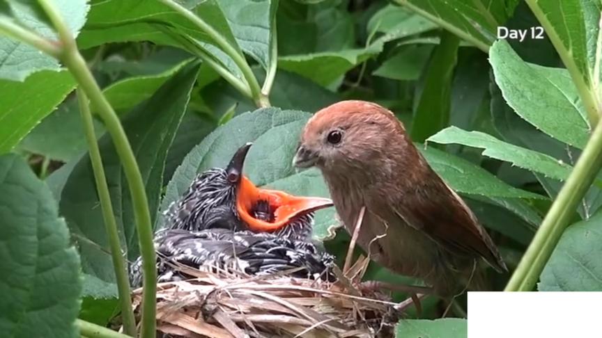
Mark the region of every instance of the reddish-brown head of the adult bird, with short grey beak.
POLYGON ((371 102, 333 104, 307 122, 293 164, 298 168, 316 166, 326 175, 345 172, 366 178, 375 166, 387 166, 392 148, 399 150, 399 156, 411 151, 405 149, 408 140, 395 139, 405 138, 400 128, 390 111, 371 102))

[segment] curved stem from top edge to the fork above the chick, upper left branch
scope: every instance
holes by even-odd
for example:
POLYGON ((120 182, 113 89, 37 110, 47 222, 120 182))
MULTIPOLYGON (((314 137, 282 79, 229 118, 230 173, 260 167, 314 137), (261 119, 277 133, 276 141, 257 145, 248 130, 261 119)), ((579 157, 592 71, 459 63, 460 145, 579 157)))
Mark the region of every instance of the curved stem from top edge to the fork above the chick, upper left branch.
POLYGON ((212 26, 203 21, 200 17, 196 16, 190 10, 187 10, 185 7, 181 6, 179 3, 176 3, 173 0, 158 0, 163 3, 165 6, 175 10, 180 13, 183 17, 188 19, 190 22, 195 24, 201 31, 210 36, 211 40, 215 41, 215 43, 224 51, 224 53, 228 54, 232 58, 232 61, 236 63, 238 68, 240 68, 240 72, 242 72, 242 76, 247 80, 247 84, 249 86, 249 90, 251 91, 251 98, 255 101, 255 104, 259 107, 270 106, 270 101, 268 97, 265 97, 261 93, 261 88, 259 88, 259 83, 253 74, 253 70, 247 63, 245 56, 242 55, 236 48, 234 48, 226 38, 224 38, 218 31, 213 29, 212 26))

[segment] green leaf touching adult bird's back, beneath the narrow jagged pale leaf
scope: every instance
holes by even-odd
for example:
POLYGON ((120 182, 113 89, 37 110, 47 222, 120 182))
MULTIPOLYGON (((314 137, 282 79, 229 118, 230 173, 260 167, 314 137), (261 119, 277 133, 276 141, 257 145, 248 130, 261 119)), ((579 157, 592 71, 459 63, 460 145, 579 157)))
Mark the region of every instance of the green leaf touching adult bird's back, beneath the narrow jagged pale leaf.
POLYGON ((543 198, 502 182, 487 170, 433 147, 417 145, 433 170, 458 193, 497 198, 543 198))

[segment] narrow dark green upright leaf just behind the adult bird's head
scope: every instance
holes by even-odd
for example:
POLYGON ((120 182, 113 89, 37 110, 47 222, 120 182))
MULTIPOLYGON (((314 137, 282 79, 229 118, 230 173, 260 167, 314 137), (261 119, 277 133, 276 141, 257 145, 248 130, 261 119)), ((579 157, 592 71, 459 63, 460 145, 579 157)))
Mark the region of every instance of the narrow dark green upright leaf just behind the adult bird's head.
POLYGON ((451 80, 456 67, 460 39, 443 33, 441 44, 435 47, 424 75, 424 87, 414 111, 410 136, 423 142, 449 125, 451 80))

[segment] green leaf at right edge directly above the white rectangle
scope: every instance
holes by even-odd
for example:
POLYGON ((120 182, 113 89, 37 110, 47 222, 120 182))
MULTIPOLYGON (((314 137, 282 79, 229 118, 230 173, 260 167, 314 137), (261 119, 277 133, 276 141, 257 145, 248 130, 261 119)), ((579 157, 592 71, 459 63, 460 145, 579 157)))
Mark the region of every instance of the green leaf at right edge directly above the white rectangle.
POLYGON ((540 291, 602 290, 602 213, 564 231, 541 273, 540 291))

